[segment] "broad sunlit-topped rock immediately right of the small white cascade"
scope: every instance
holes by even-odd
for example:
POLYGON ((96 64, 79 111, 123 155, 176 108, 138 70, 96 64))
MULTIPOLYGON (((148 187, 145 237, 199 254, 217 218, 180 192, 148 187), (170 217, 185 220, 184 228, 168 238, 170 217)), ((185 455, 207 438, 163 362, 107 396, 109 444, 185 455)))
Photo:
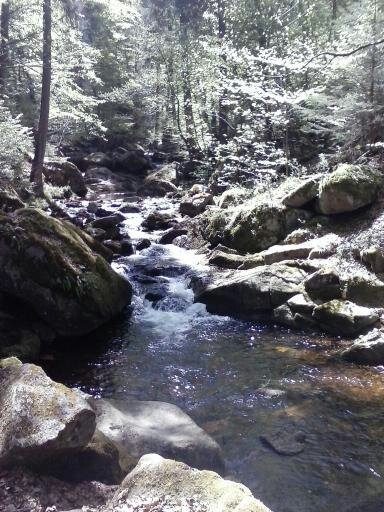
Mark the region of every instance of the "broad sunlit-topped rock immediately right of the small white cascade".
POLYGON ((306 276, 304 270, 280 263, 239 270, 197 290, 195 300, 212 313, 252 317, 300 293, 306 276))

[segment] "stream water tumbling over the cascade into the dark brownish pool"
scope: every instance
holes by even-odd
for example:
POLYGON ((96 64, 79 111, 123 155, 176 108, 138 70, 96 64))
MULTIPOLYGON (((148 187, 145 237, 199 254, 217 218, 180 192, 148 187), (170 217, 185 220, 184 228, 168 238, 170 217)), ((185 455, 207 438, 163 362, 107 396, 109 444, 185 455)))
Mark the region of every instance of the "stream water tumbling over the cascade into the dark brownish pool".
MULTIPOLYGON (((158 209, 175 205, 143 203, 144 214, 158 209)), ((208 314, 188 288, 203 257, 158 245, 142 220, 129 214, 124 229, 151 247, 114 263, 135 287, 132 315, 77 344, 75 358, 73 347, 47 358, 50 375, 105 398, 178 405, 222 446, 227 477, 273 512, 384 510, 384 369, 332 360, 336 340, 318 333, 208 314), (292 428, 305 437, 296 455, 261 440, 289 443, 292 428)))

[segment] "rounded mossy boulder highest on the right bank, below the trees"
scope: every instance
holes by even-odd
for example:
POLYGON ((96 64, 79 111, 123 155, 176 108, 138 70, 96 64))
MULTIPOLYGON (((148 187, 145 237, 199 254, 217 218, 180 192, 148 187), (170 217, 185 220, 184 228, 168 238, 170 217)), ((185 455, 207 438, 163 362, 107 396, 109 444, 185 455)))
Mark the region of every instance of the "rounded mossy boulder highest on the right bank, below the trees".
POLYGON ((372 167, 341 164, 320 183, 319 211, 331 215, 372 204, 382 181, 380 173, 372 167))

